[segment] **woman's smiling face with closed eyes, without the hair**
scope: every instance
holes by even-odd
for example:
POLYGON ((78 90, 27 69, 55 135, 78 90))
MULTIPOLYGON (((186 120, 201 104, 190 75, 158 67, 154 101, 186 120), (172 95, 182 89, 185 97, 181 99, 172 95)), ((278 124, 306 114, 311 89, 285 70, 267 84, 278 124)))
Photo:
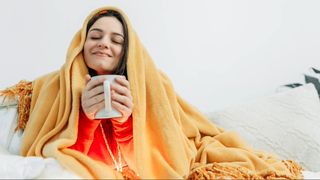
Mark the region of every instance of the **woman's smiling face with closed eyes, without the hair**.
POLYGON ((84 60, 98 75, 112 74, 123 55, 124 35, 115 17, 101 17, 89 29, 84 43, 84 60))

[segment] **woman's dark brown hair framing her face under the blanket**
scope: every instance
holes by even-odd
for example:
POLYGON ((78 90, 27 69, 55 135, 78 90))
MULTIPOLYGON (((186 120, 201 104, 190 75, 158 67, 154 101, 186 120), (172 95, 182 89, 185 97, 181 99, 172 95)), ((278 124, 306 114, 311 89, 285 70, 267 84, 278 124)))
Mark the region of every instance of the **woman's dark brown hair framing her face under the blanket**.
MULTIPOLYGON (((95 16, 93 16, 87 25, 87 34, 89 29, 91 28, 91 26, 100 18, 102 17, 106 17, 106 16, 111 16, 111 17, 115 17, 117 18, 120 23, 122 24, 123 27, 123 33, 124 33, 124 43, 122 45, 122 50, 123 50, 123 55, 121 60, 119 61, 118 66, 116 67, 116 69, 114 70, 113 74, 118 74, 118 75, 124 75, 127 77, 127 59, 128 59, 128 44, 129 44, 129 37, 128 37, 128 26, 127 23, 124 19, 124 17, 117 11, 114 10, 104 10, 104 11, 100 11, 99 13, 97 13, 95 16)), ((96 72, 89 68, 89 74, 91 76, 95 76, 97 75, 96 72)))

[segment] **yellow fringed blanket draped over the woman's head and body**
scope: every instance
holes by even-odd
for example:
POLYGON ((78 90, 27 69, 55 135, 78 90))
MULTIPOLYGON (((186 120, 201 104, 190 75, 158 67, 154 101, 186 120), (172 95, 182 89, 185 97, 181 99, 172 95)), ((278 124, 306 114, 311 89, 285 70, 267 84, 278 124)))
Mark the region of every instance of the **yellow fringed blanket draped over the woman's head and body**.
POLYGON ((136 173, 141 178, 302 178, 298 164, 254 151, 236 133, 215 126, 179 97, 127 16, 114 7, 94 10, 73 38, 61 69, 33 81, 22 155, 54 157, 84 178, 122 177, 104 163, 68 148, 76 142, 88 73, 82 55, 86 26, 96 13, 110 9, 120 12, 128 24, 127 74, 134 102, 136 173))

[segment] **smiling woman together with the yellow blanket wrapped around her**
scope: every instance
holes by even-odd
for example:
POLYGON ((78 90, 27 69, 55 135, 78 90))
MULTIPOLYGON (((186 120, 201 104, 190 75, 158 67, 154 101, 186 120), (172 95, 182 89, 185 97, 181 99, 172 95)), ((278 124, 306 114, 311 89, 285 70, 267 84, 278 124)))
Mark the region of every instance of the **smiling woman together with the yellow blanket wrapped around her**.
POLYGON ((84 178, 302 177, 300 166, 293 161, 279 161, 252 150, 235 133, 216 127, 183 101, 153 64, 128 18, 112 7, 88 16, 59 71, 32 82, 28 119, 21 154, 55 157, 84 178), (113 15, 99 17, 111 10, 123 21, 113 15), (88 74, 118 73, 121 63, 126 64, 122 72, 127 73, 128 81, 118 79, 113 87, 113 106, 123 118, 92 120, 103 106, 103 79, 89 81, 88 74), (90 138, 83 137, 86 127, 90 133, 84 135, 91 134, 90 138), (121 138, 128 141, 122 143, 121 138), (84 142, 88 139, 89 143, 84 142), (103 149, 108 145, 110 151, 103 149))

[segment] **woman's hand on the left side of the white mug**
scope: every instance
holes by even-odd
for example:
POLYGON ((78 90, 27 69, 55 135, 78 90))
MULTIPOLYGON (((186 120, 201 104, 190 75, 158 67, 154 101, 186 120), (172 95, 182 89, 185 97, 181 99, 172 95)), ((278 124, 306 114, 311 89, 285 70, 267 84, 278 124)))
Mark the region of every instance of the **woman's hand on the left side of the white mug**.
POLYGON ((93 120, 97 111, 104 107, 103 81, 102 78, 91 80, 91 76, 85 76, 86 87, 82 91, 81 106, 86 116, 93 120))

